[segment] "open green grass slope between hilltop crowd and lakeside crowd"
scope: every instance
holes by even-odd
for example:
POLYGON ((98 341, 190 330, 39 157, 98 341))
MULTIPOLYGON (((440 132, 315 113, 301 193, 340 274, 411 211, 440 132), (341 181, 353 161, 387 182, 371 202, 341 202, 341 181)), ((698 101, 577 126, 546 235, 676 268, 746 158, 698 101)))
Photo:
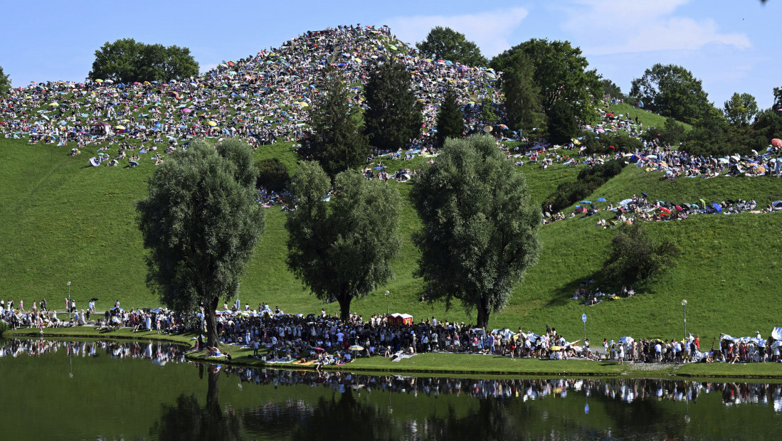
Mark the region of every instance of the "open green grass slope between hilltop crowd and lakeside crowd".
MULTIPOLYGON (((632 113, 631 113, 632 114, 632 113)), ((259 149, 260 157, 278 156, 295 167, 289 144, 259 149)), ((0 298, 24 299, 31 305, 45 296, 62 309, 72 282, 71 295, 81 307, 91 297, 102 309, 120 299, 124 307, 153 307, 159 301, 145 286, 144 250, 135 225, 134 203, 146 192, 153 167, 134 169, 89 167, 83 156, 66 156, 66 148, 28 145, 0 139, 0 298)), ((411 163, 386 163, 390 170, 411 163)), ((413 164, 414 166, 416 164, 413 164)), ((562 181, 576 177, 579 168, 555 165, 542 170, 521 167, 533 198, 543 199, 562 181)), ((679 178, 661 181, 661 175, 627 167, 598 188, 591 198, 619 201, 647 192, 651 199, 696 202, 755 199, 765 206, 782 199, 782 187, 769 177, 679 178)), ((403 196, 411 186, 396 184, 403 196)), ((591 200, 594 200, 591 199, 591 200)), ((336 304, 323 305, 302 288, 285 268, 285 213, 267 211, 267 230, 242 281, 242 303, 255 307, 265 301, 286 312, 329 313, 336 304)), ((364 317, 385 313, 391 292, 391 312, 469 322, 461 310, 446 311, 442 304, 421 303, 421 282, 412 277, 418 257, 410 236, 420 226, 407 204, 402 213, 402 253, 394 264, 396 278, 367 299, 353 302, 364 317)), ((631 299, 604 301, 584 307, 569 299, 580 281, 601 280, 600 269, 613 230, 594 226, 596 219, 573 218, 543 226, 540 262, 527 274, 511 303, 493 314, 493 327, 531 328, 551 324, 572 339, 583 335, 581 314, 586 313, 592 339, 622 335, 673 338, 683 334, 681 299, 687 299, 687 330, 701 337, 728 332, 768 334, 782 325, 775 304, 782 281, 777 277, 782 258, 782 215, 744 213, 732 216, 698 215, 686 221, 650 224, 653 235, 671 235, 680 243, 679 264, 654 284, 636 286, 631 299)))

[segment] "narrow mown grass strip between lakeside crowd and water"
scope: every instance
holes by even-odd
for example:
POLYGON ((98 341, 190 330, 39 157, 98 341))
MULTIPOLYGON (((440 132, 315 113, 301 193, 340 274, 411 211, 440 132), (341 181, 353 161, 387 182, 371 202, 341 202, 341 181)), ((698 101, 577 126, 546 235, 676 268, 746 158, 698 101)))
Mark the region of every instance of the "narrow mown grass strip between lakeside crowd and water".
MULTIPOLYGON (((5 338, 39 338, 38 328, 12 329, 3 335, 5 338)), ((130 328, 111 331, 99 331, 90 326, 74 328, 46 328, 42 337, 84 338, 84 339, 133 339, 173 342, 190 346, 195 334, 167 335, 157 332, 133 332, 130 328)), ((271 368, 291 370, 314 370, 314 366, 290 363, 267 364, 250 357, 252 350, 243 350, 239 346, 221 346, 224 353, 231 354, 231 360, 224 357, 206 357, 205 351, 192 351, 185 357, 191 361, 204 363, 230 364, 250 368, 271 368)), ((486 356, 462 353, 422 353, 400 362, 388 358, 368 357, 354 360, 350 365, 325 366, 324 371, 351 371, 366 374, 395 373, 406 375, 439 376, 536 376, 536 377, 621 377, 621 378, 671 378, 699 379, 708 381, 719 379, 764 379, 782 381, 782 364, 618 364, 612 361, 587 360, 537 360, 511 359, 509 357, 486 356)))

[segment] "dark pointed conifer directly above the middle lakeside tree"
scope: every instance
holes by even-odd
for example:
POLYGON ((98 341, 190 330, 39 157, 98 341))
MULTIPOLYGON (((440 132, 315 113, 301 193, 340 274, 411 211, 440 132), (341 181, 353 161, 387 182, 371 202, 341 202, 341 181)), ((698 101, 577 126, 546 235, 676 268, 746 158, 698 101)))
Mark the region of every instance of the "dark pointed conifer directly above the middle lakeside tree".
POLYGON ((333 178, 364 163, 369 145, 339 71, 328 71, 319 91, 310 108, 310 133, 302 142, 300 155, 320 163, 333 178))

